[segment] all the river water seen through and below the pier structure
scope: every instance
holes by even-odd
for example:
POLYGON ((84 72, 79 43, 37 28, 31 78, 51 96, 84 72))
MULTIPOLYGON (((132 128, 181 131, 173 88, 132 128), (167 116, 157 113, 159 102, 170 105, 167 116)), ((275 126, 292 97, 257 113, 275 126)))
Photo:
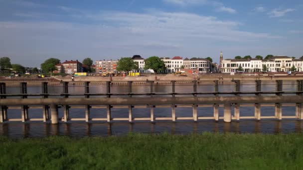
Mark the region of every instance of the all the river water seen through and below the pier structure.
MULTIPOLYGON (((241 85, 241 91, 255 91, 255 83, 245 82, 241 85)), ((296 81, 284 81, 284 91, 295 91, 297 87, 296 81)), ((275 91, 274 81, 263 81, 262 91, 275 91)), ((48 87, 49 93, 61 93, 62 86, 48 87)), ((220 85, 219 91, 234 91, 234 85, 220 85)), ((126 85, 112 85, 111 90, 113 93, 128 92, 128 86, 126 85)), ((150 92, 149 85, 133 85, 133 92, 150 92)), ((187 84, 176 84, 175 92, 192 92, 193 86, 187 84)), ((214 86, 209 83, 202 83, 197 86, 198 92, 211 92, 214 91, 214 86)), ((20 92, 19 87, 7 87, 6 92, 9 94, 16 94, 20 92)), ((41 93, 41 87, 28 87, 28 93, 41 93)), ((91 85, 91 93, 105 93, 104 85, 91 85)), ((171 92, 170 85, 153 85, 153 92, 171 92)), ((69 93, 84 93, 83 86, 70 85, 69 93)), ((252 94, 253 95, 253 94, 252 94)), ((274 95, 274 94, 263 94, 274 95)), ((294 95, 294 94, 284 94, 294 95)), ((177 95, 178 96, 178 95, 177 95)), ((185 95, 183 95, 185 96, 185 95)), ((200 96, 212 96, 212 95, 200 95, 200 96)), ((83 97, 83 96, 71 96, 71 97, 83 97)), ((104 96, 92 96, 92 97, 104 97, 104 96)), ((113 96, 121 97, 121 96, 113 96)), ((123 97, 123 96, 122 96, 123 97)), ((127 96, 124 96, 127 97, 127 96)), ((144 96, 135 96, 144 97, 144 96)), ((163 96, 164 97, 164 96, 163 96)), ((274 107, 261 107, 262 116, 273 116, 274 107)), ((233 112, 233 109, 232 109, 233 112)), ((84 109, 70 109, 70 118, 83 118, 85 117, 84 109)), ((241 116, 253 116, 254 107, 240 107, 241 116)), ((295 115, 295 106, 283 107, 284 116, 295 115)), ((91 109, 91 117, 93 118, 105 118, 105 109, 91 109)), ((149 117, 149 108, 134 108, 133 117, 149 117)), ((155 117, 170 117, 171 108, 154 108, 155 117)), ((192 116, 192 108, 176 108, 177 117, 190 117, 192 116)), ((212 107, 198 108, 198 116, 213 116, 212 107)), ((219 116, 223 116, 223 108, 219 108, 219 116)), ((20 118, 20 109, 8 109, 8 118, 20 118)), ((63 117, 63 110, 59 108, 59 117, 63 117)), ((127 108, 113 108, 112 117, 128 117, 127 108)), ((42 109, 29 109, 29 118, 42 118, 42 109)), ((303 122, 297 119, 263 119, 260 121, 248 119, 248 120, 233 120, 232 123, 224 123, 223 120, 215 122, 214 120, 201 120, 193 122, 190 120, 182 121, 177 120, 173 123, 171 121, 156 121, 151 122, 90 122, 72 121, 67 123, 60 123, 58 125, 52 125, 50 123, 43 122, 5 122, 0 124, 0 135, 8 136, 11 138, 23 138, 23 137, 45 137, 49 135, 68 135, 72 137, 82 136, 109 136, 109 135, 125 135, 129 132, 141 132, 141 133, 162 133, 168 132, 172 134, 189 134, 200 133, 204 131, 210 132, 237 132, 237 133, 291 133, 302 132, 303 122)))

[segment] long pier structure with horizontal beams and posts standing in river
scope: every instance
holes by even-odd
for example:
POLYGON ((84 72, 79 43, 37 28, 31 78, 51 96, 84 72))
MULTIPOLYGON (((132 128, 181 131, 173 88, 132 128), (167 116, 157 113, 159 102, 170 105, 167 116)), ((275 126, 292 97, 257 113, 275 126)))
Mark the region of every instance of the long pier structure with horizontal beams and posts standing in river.
POLYGON ((90 93, 90 83, 84 83, 84 93, 69 93, 68 82, 62 82, 62 93, 51 94, 48 93, 47 82, 42 82, 42 93, 29 94, 27 93, 26 82, 20 83, 19 94, 6 94, 5 83, 0 83, 0 122, 4 121, 51 121, 51 123, 58 123, 59 121, 157 121, 157 120, 203 120, 213 119, 218 121, 223 119, 225 122, 231 122, 232 120, 240 119, 303 119, 303 80, 297 81, 296 91, 283 91, 283 81, 276 81, 275 91, 262 91, 261 80, 255 81, 255 91, 241 91, 241 82, 239 80, 233 80, 234 91, 222 92, 219 91, 219 81, 213 81, 214 91, 211 92, 199 92, 197 86, 199 82, 192 82, 192 92, 176 92, 175 81, 171 81, 171 92, 154 92, 154 82, 146 82, 150 86, 150 92, 136 93, 132 91, 132 85, 134 82, 127 82, 128 92, 126 93, 113 93, 111 91, 111 85, 113 82, 106 82, 105 93, 90 93), (208 94, 207 96, 203 96, 208 94), (209 96, 212 94, 212 96, 209 96), (222 96, 221 94, 225 94, 222 96), (226 94, 228 96, 226 96, 226 94), (253 96, 247 96, 245 94, 254 94, 253 96), (275 94, 274 96, 265 96, 262 94, 275 94), (283 95, 291 94, 291 95, 283 95), (69 97, 69 96, 82 96, 69 97), (98 98, 91 98, 90 96, 103 96, 98 98), (112 97, 118 95, 118 97, 112 97), (140 97, 136 97, 141 95, 140 97), (142 97, 144 95, 144 97, 142 97), (186 96, 185 96, 186 95, 186 96), (35 98, 28 98, 29 96, 35 98), (53 98, 53 96, 61 96, 53 98), (125 97, 127 96, 127 97, 125 97), (18 98, 11 98, 18 97, 18 98), (261 107, 275 107, 275 113, 273 116, 262 116, 261 107), (296 113, 293 116, 286 116, 282 114, 283 106, 294 106, 296 107, 296 113), (58 108, 63 108, 63 117, 58 117, 58 108), (156 117, 154 116, 154 108, 156 107, 169 107, 171 108, 170 117, 156 117), (178 107, 191 107, 192 116, 190 117, 177 117, 175 110, 178 107), (198 116, 198 107, 212 107, 213 116, 198 116), (219 116, 219 107, 223 107, 224 115, 219 116), (254 107, 254 116, 240 116, 240 107, 254 107), (39 108, 42 109, 42 118, 29 118, 29 109, 39 108), (72 118, 70 116, 71 108, 82 108, 85 109, 83 118, 72 118), (92 108, 103 108, 106 109, 105 118, 93 118, 90 116, 92 108), (128 117, 119 118, 112 117, 112 108, 127 108, 128 117), (133 108, 149 108, 149 117, 133 117, 133 108), (233 113, 232 113, 233 108, 233 113), (9 119, 7 117, 8 109, 21 109, 21 118, 9 119))

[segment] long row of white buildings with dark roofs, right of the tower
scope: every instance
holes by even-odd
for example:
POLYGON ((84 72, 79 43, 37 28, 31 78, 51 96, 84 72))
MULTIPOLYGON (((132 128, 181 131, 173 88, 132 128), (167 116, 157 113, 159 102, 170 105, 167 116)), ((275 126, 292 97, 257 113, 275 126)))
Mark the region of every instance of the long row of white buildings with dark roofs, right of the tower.
POLYGON ((270 59, 225 59, 220 60, 220 70, 222 73, 243 72, 288 72, 292 67, 298 72, 303 71, 303 59, 293 59, 288 56, 274 56, 270 59), (265 70, 265 69, 266 70, 265 70))

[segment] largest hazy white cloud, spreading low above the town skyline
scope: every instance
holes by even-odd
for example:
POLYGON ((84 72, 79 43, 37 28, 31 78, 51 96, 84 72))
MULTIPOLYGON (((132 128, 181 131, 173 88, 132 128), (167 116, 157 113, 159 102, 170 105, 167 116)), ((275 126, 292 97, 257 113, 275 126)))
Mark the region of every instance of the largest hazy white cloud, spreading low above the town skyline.
POLYGON ((214 44, 280 38, 240 30, 241 23, 237 21, 186 12, 78 11, 64 16, 72 17, 75 13, 74 23, 40 19, 0 22, 1 54, 12 56, 12 62, 29 66, 57 56, 61 60, 83 56, 92 56, 94 60, 116 59, 134 54, 189 57, 218 50, 214 44), (88 24, 81 24, 84 20, 88 24))

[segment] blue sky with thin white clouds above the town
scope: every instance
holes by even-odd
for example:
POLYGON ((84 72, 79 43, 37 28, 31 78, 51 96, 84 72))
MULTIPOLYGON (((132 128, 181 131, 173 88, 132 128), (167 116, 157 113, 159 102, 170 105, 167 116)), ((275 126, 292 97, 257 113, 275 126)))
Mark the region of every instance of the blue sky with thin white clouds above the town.
POLYGON ((302 0, 0 0, 0 56, 301 57, 302 0))

